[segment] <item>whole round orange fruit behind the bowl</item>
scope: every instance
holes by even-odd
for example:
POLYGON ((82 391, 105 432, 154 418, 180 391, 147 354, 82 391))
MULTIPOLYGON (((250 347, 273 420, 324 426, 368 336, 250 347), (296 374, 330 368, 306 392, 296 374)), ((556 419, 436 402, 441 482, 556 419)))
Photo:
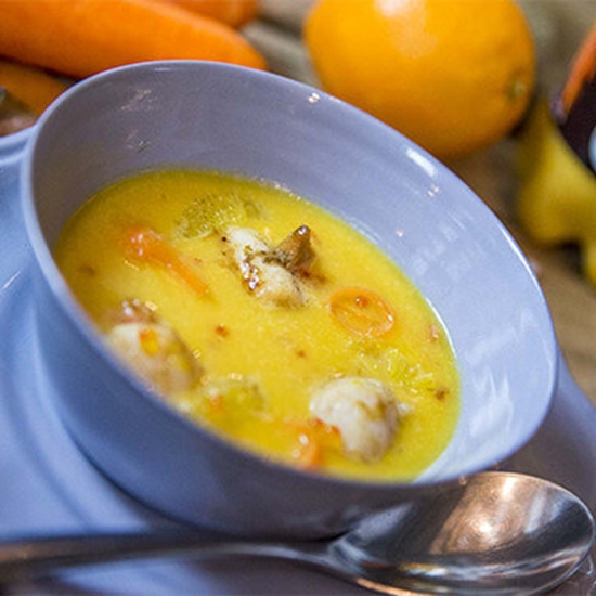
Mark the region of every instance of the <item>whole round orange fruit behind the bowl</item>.
POLYGON ((442 159, 505 137, 534 87, 515 0, 319 0, 305 42, 323 89, 442 159))

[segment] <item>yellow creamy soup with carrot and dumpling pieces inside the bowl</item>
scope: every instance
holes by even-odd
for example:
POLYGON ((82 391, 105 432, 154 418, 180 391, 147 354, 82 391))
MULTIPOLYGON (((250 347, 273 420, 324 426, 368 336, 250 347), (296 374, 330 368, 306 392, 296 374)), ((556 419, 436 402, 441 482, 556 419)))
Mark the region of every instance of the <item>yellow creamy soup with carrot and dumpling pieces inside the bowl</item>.
POLYGON ((55 258, 132 370, 245 449, 410 480, 455 430, 457 366, 433 310, 378 247, 286 190, 145 172, 91 197, 55 258))

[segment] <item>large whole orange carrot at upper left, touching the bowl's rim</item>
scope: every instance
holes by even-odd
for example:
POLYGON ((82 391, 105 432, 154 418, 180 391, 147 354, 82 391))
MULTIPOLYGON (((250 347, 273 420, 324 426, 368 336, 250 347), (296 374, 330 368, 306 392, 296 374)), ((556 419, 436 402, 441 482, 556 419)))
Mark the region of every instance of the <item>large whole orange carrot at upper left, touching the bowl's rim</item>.
POLYGON ((231 27, 154 0, 0 0, 0 54, 81 78, 151 60, 265 66, 231 27))

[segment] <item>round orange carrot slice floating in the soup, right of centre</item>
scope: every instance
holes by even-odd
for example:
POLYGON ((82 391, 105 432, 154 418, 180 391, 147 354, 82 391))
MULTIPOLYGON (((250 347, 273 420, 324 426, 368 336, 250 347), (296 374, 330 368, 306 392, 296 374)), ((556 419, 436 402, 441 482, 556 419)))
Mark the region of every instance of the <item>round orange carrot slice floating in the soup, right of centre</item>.
POLYGON ((379 337, 393 328, 396 318, 385 299, 371 289, 346 287, 329 299, 333 316, 350 333, 379 337))

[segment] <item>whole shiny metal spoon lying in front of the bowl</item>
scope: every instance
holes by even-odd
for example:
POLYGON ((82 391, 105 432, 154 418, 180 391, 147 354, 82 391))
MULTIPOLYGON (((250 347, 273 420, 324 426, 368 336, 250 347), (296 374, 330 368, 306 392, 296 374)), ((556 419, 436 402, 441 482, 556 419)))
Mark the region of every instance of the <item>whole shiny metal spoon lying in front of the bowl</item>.
POLYGON ((0 543, 0 580, 150 557, 289 559, 386 594, 533 594, 568 579, 594 541, 588 508, 537 478, 483 472, 378 514, 332 541, 203 532, 66 535, 0 543))

